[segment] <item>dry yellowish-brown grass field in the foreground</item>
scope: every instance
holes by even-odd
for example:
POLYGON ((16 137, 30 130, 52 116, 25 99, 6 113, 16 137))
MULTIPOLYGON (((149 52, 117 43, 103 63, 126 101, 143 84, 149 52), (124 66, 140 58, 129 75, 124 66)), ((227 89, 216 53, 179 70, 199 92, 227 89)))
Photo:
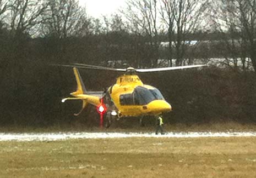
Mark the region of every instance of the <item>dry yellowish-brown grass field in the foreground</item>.
POLYGON ((256 137, 0 142, 0 177, 256 177, 256 137))

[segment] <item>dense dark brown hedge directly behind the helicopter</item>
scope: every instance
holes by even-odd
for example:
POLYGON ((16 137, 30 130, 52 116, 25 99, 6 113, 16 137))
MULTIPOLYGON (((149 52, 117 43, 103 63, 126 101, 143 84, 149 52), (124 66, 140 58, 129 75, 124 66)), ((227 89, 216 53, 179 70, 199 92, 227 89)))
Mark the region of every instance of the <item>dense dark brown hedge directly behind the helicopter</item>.
MULTIPOLYGON (((73 114, 79 112, 81 102, 61 102, 76 89, 71 68, 37 63, 28 64, 23 69, 19 89, 13 88, 8 79, 1 83, 1 125, 92 127, 99 124, 99 114, 94 106, 75 117, 73 114)), ((89 90, 110 86, 119 74, 92 70, 80 70, 80 73, 89 90)), ((253 72, 206 67, 142 74, 140 78, 159 88, 172 104, 173 111, 164 115, 166 123, 256 122, 256 78, 253 72)), ((128 121, 121 127, 127 126, 128 121)), ((133 119, 132 123, 138 124, 138 119, 133 119)))

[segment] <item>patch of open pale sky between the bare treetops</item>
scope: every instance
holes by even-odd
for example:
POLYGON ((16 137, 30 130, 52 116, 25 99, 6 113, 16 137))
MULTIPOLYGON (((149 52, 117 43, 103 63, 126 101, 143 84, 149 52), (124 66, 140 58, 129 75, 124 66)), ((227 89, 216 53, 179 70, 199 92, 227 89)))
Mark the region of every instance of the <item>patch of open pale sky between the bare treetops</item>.
POLYGON ((113 14, 125 4, 125 0, 79 0, 79 2, 80 5, 86 5, 88 15, 94 18, 113 14))

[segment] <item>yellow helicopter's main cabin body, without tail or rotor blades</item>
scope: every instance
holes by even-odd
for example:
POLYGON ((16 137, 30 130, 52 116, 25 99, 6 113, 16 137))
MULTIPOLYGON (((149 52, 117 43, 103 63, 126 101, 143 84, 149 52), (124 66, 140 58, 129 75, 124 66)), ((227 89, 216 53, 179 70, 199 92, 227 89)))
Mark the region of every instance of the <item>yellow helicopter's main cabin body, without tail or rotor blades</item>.
POLYGON ((143 84, 135 74, 119 76, 107 92, 118 117, 157 115, 172 110, 157 88, 143 84))

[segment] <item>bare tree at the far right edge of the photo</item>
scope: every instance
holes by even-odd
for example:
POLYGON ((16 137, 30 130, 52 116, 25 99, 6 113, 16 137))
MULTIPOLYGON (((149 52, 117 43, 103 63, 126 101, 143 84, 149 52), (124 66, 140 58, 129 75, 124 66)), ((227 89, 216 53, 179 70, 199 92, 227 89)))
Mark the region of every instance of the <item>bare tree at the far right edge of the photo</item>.
POLYGON ((226 65, 242 64, 246 70, 250 62, 256 71, 256 5, 255 0, 220 0, 215 2, 218 11, 212 12, 217 30, 226 34, 226 65), (250 59, 250 61, 248 60, 250 59))

